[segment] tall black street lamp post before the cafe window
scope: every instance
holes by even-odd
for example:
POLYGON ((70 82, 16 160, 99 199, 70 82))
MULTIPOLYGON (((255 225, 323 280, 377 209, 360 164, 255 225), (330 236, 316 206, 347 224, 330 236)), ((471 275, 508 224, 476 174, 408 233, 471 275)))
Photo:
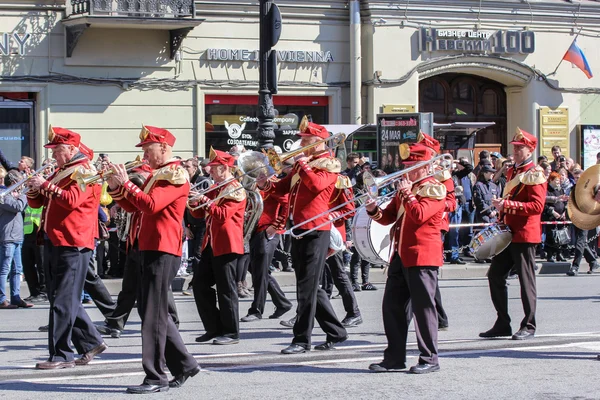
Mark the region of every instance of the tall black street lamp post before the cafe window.
POLYGON ((273 94, 277 93, 277 52, 272 49, 281 36, 281 14, 272 0, 260 0, 260 47, 258 89, 258 134, 261 148, 273 147, 277 110, 273 94))

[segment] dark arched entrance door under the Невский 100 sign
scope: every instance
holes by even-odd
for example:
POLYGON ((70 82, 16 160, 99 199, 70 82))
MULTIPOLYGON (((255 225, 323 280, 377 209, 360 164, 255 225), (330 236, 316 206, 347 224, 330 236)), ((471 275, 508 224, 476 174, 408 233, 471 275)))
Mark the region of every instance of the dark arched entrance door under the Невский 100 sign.
POLYGON ((496 81, 454 73, 424 79, 419 83, 419 111, 432 112, 436 123, 495 122, 478 132, 475 142, 497 145, 507 154, 506 92, 496 81))

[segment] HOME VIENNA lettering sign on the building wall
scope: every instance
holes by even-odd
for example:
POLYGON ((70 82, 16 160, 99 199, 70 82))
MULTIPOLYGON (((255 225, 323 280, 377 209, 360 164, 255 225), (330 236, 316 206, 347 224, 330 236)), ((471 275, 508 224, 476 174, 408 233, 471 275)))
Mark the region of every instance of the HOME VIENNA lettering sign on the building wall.
MULTIPOLYGON (((207 49, 206 58, 211 61, 256 61, 258 50, 207 49)), ((330 51, 277 50, 279 62, 329 63, 333 61, 330 51)))

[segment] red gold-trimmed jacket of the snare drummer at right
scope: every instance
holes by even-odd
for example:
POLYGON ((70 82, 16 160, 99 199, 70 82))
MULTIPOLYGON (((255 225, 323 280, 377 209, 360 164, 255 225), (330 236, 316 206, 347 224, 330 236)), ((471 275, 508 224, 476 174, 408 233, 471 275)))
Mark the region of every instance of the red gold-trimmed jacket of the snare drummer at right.
POLYGON ((510 169, 506 176, 504 223, 512 231, 514 243, 542 241, 542 212, 546 201, 547 182, 544 171, 532 160, 510 169))

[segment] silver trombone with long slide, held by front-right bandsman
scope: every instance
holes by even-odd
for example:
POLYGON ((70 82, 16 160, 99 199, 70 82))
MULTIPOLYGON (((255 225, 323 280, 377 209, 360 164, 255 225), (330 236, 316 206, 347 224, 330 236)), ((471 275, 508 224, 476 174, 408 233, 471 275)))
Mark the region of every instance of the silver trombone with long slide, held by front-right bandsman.
MULTIPOLYGON (((442 165, 442 168, 443 168, 442 171, 449 170, 452 167, 452 155, 450 155, 450 154, 441 154, 441 155, 439 155, 437 157, 432 158, 431 160, 422 161, 422 162, 417 163, 417 164, 415 164, 415 165, 413 165, 411 167, 405 168, 403 170, 400 170, 400 171, 397 171, 397 172, 394 172, 392 174, 385 175, 385 176, 382 176, 382 177, 379 177, 379 178, 375 178, 369 171, 363 171, 363 182, 364 182, 364 186, 365 186, 365 193, 361 194, 360 196, 354 197, 353 199, 348 200, 348 201, 346 201, 346 202, 344 202, 342 204, 339 204, 339 205, 337 205, 337 206, 335 206, 335 207, 333 207, 333 208, 331 208, 331 209, 329 209, 327 211, 323 211, 322 213, 317 214, 314 217, 309 218, 309 219, 307 219, 304 222, 301 222, 301 223, 299 223, 297 225, 292 226, 290 229, 288 229, 287 231, 285 231, 284 234, 287 233, 287 234, 292 235, 293 238, 299 239, 299 238, 304 237, 305 235, 308 235, 309 233, 311 233, 311 232, 313 232, 313 231, 315 231, 315 230, 317 230, 317 229, 319 229, 319 228, 321 228, 321 227, 323 227, 323 226, 325 226, 327 224, 330 224, 330 223, 333 223, 333 222, 337 221, 338 219, 344 218, 344 217, 346 217, 348 215, 351 215, 351 214, 355 214, 361 208, 366 207, 369 200, 373 200, 373 201, 377 200, 377 198, 379 197, 379 195, 378 195, 379 189, 381 189, 381 188, 383 188, 383 187, 385 187, 387 185, 396 183, 397 181, 399 181, 400 179, 403 178, 403 175, 406 175, 409 172, 412 172, 412 171, 417 170, 419 168, 422 168, 424 166, 432 166, 433 164, 435 164, 438 161, 440 161, 440 162, 441 161, 450 161, 449 163, 441 163, 441 164, 443 164, 442 165), (360 206, 356 207, 354 210, 347 211, 347 212, 345 212, 343 214, 340 214, 337 217, 329 219, 327 222, 323 222, 322 224, 319 224, 319 225, 315 226, 314 228, 306 230, 306 231, 304 231, 302 233, 299 233, 299 234, 295 234, 294 233, 295 229, 300 229, 302 226, 308 224, 309 222, 312 222, 312 221, 314 221, 316 219, 319 219, 319 218, 323 217, 326 214, 330 214, 333 211, 339 210, 340 208, 343 208, 343 207, 345 207, 346 205, 348 205, 350 203, 353 203, 353 202, 356 202, 356 201, 363 201, 363 200, 365 202, 363 204, 361 204, 360 206)), ((431 174, 429 174, 427 176, 424 176, 423 178, 417 179, 413 183, 420 182, 420 181, 425 180, 427 178, 431 178, 431 177, 435 176, 436 173, 431 173, 431 174)), ((391 196, 393 196, 395 194, 396 194, 396 191, 393 191, 393 192, 388 193, 387 195, 385 195, 384 198, 391 197, 391 196)))

